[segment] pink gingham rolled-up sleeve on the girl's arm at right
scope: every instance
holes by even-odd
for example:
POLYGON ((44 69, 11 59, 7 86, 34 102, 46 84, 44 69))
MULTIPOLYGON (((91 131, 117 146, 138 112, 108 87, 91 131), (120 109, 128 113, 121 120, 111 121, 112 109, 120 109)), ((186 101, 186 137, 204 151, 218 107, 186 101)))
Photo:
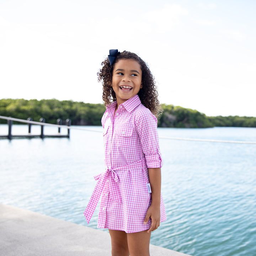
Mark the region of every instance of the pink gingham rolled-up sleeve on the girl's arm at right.
POLYGON ((156 117, 148 109, 145 109, 137 116, 135 123, 147 167, 162 167, 156 117))

